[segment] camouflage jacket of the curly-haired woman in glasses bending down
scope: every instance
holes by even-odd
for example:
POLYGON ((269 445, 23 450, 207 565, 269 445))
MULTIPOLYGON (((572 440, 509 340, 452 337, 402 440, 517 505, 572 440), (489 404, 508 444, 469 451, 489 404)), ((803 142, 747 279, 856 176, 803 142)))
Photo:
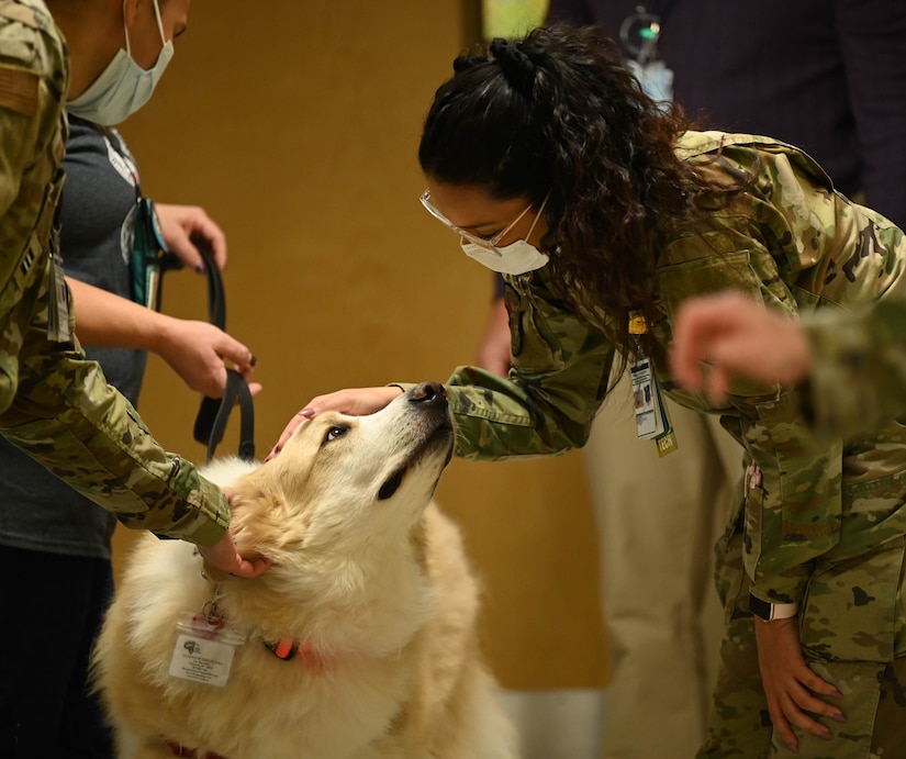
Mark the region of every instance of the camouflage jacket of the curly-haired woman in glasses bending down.
MULTIPOLYGON (((757 181, 696 228, 656 241, 653 290, 664 317, 651 333, 659 349, 670 343, 680 303, 728 288, 790 313, 906 295, 903 232, 836 193, 808 156, 770 138, 713 132, 682 135, 676 152, 725 180, 745 169, 757 181)), ((567 310, 545 268, 505 279, 510 380, 465 367, 448 381, 457 455, 466 458, 550 455, 583 445, 614 359, 613 345, 567 310)), ((746 569, 762 600, 799 601, 816 562, 906 533, 902 426, 816 443, 798 390, 740 380, 727 405, 716 409, 678 390, 662 360, 657 373, 679 403, 720 414, 746 448, 750 476, 740 480, 734 528, 745 529, 746 569)))

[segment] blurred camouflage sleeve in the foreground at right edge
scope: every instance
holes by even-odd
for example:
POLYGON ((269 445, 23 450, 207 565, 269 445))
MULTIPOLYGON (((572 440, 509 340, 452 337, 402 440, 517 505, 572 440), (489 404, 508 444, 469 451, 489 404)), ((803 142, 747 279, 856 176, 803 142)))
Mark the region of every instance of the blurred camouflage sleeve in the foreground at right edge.
POLYGON ((804 326, 814 364, 810 418, 820 436, 864 433, 906 413, 906 299, 804 326))

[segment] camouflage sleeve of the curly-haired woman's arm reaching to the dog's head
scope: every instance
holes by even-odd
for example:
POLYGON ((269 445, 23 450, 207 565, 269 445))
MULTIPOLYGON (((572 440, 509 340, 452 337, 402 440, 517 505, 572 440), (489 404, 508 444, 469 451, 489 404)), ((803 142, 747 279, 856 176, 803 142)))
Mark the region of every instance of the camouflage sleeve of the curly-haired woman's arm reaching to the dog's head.
POLYGON ((613 347, 562 308, 544 269, 504 279, 513 367, 506 379, 460 367, 447 380, 456 455, 499 460, 581 447, 606 389, 613 347))

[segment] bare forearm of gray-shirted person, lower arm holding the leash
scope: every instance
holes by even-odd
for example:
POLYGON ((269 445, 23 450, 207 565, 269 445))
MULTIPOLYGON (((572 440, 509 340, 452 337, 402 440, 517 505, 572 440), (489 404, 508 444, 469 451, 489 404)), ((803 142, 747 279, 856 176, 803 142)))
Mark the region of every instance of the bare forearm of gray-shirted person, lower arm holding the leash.
POLYGON ((165 342, 171 316, 71 277, 66 282, 72 292, 76 334, 82 345, 157 351, 165 342))

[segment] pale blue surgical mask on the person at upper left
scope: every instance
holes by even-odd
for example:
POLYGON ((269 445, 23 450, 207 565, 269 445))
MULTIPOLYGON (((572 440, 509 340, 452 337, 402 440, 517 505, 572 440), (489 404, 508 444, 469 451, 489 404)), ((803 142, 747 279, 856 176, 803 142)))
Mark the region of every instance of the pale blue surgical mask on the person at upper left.
POLYGON ((155 65, 145 70, 132 58, 132 48, 128 42, 128 29, 125 25, 125 4, 123 7, 123 29, 126 33, 126 49, 116 51, 113 60, 108 64, 101 75, 91 82, 88 89, 78 98, 66 103, 66 110, 72 115, 93 121, 103 126, 113 126, 125 121, 135 113, 152 97, 167 64, 174 57, 172 40, 164 36, 164 23, 160 20, 160 8, 154 0, 154 13, 157 16, 157 29, 160 32, 163 48, 155 65))

